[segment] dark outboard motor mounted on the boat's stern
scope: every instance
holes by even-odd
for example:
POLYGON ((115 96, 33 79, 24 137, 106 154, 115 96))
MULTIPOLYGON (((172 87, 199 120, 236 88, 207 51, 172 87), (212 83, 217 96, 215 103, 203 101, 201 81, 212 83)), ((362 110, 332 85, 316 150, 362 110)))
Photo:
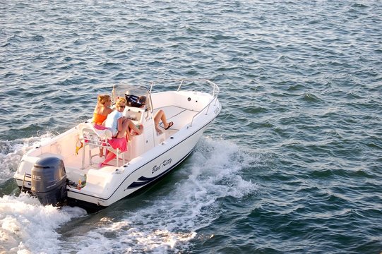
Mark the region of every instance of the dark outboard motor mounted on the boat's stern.
POLYGON ((60 205, 66 200, 64 162, 57 157, 37 160, 32 169, 32 193, 42 205, 60 205))

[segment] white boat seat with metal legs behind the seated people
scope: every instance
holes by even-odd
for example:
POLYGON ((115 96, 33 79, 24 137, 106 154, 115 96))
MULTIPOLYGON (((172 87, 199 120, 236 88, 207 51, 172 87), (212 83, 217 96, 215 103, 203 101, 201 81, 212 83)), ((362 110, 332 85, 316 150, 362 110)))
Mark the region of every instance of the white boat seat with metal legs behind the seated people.
POLYGON ((121 152, 119 148, 114 149, 109 144, 109 140, 112 139, 112 131, 109 129, 98 130, 94 128, 92 123, 80 123, 78 126, 78 137, 80 142, 83 143, 83 155, 82 155, 82 168, 85 169, 85 147, 89 146, 89 164, 92 165, 92 149, 94 147, 104 147, 109 152, 113 152, 117 155, 117 167, 119 167, 119 155, 122 155, 122 162, 125 164, 124 152, 121 152))

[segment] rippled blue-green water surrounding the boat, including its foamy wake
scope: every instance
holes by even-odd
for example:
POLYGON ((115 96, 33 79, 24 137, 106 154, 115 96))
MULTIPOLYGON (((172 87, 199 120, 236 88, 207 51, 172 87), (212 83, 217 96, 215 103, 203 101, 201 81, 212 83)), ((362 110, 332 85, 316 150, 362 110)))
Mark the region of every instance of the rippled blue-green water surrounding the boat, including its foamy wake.
MULTIPOLYGON (((0 253, 381 253, 381 1, 0 1, 0 253), (121 81, 208 78, 222 112, 97 214, 12 176, 121 81)), ((166 87, 162 87, 165 89, 166 87)))

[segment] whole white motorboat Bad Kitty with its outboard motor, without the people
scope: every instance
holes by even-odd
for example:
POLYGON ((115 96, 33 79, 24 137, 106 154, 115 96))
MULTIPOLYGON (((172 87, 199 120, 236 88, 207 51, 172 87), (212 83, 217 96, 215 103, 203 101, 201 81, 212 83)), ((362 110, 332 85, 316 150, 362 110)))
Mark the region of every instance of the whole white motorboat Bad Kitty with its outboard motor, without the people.
MULTIPOLYGON (((130 95, 146 97, 144 106, 130 104, 124 116, 143 125, 141 135, 133 135, 128 150, 109 145, 109 130, 98 130, 91 119, 29 150, 13 176, 21 189, 35 195, 43 205, 75 205, 100 210, 153 183, 188 157, 208 124, 220 113, 219 87, 210 80, 177 80, 151 83, 150 89, 119 84, 113 87, 112 101, 130 95), (174 87, 153 92, 155 87, 174 87), (207 89, 207 90, 206 90, 207 89), (162 109, 174 123, 162 133, 155 130, 153 116, 162 109), (83 147, 76 151, 76 145, 83 147), (117 157, 100 165, 100 147, 117 157)), ((128 103, 129 104, 129 103, 128 103)), ((163 126, 162 126, 163 127, 163 126)))

